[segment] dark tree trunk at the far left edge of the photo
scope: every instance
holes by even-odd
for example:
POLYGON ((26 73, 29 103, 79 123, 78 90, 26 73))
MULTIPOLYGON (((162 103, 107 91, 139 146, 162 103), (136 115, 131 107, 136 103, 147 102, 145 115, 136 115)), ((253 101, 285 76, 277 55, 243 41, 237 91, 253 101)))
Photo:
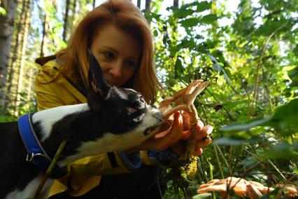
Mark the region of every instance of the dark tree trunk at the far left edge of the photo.
MULTIPOLYGON (((3 1, 1 1, 3 3, 3 1)), ((2 6, 2 5, 1 5, 2 6)), ((0 107, 3 107, 6 92, 6 75, 8 71, 9 52, 11 46, 11 35, 13 34, 13 22, 17 1, 10 0, 6 5, 6 15, 0 15, 0 107)))

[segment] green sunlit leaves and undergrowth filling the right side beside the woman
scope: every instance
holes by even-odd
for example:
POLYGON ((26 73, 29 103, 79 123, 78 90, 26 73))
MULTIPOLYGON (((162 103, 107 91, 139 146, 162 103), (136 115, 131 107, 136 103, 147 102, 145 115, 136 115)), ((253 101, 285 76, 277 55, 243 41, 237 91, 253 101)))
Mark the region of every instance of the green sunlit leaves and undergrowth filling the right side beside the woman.
MULTIPOLYGON (((229 176, 297 184, 297 3, 242 0, 231 13, 225 1, 193 1, 167 8, 169 15, 146 13, 168 91, 160 97, 196 78, 210 82, 196 103, 201 120, 215 128, 214 142, 190 179, 191 193, 193 183, 229 176), (224 19, 234 22, 220 25, 224 19)), ((190 197, 186 189, 178 187, 179 198, 190 197)))

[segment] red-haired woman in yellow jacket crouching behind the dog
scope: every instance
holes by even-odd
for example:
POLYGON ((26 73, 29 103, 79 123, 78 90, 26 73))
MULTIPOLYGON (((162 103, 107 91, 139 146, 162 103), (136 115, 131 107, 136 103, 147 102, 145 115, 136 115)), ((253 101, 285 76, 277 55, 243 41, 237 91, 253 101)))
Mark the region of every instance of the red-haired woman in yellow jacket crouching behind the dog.
MULTIPOLYGON (((108 83, 133 88, 143 94, 148 104, 155 102, 156 88, 161 86, 155 75, 150 27, 130 1, 111 0, 83 18, 67 48, 36 60, 40 68, 34 83, 38 110, 86 102, 87 49, 97 58, 108 83)), ((174 153, 183 153, 183 139, 190 136, 189 130, 183 130, 183 121, 187 124, 187 119, 174 114, 171 127, 139 146, 72 163, 68 166, 69 174, 55 180, 49 196, 162 198, 165 184, 155 183, 160 170, 153 160, 166 163, 169 157, 176 158, 174 153), (140 153, 141 167, 135 161, 140 153), (159 154, 166 154, 167 160, 163 161, 159 154)), ((198 129, 201 135, 212 130, 203 125, 198 129)), ((199 154, 198 148, 194 155, 199 154)))

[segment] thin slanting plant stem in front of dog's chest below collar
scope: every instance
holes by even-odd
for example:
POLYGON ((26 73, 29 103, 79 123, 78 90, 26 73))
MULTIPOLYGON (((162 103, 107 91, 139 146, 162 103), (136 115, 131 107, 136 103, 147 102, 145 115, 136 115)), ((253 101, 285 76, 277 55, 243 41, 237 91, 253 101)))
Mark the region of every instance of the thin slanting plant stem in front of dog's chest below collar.
POLYGON ((45 174, 43 175, 43 179, 41 180, 38 188, 36 189, 35 193, 34 193, 34 199, 38 199, 39 194, 41 193, 41 190, 43 189, 43 186, 45 185, 45 181, 47 181, 48 177, 50 176, 50 173, 52 172, 52 169, 55 167, 57 160, 62 152, 62 150, 64 149, 64 146, 66 144, 68 139, 64 139, 62 141, 62 143, 60 144, 54 158, 52 158, 52 162, 50 163, 50 166, 48 167, 48 170, 45 172, 45 174))

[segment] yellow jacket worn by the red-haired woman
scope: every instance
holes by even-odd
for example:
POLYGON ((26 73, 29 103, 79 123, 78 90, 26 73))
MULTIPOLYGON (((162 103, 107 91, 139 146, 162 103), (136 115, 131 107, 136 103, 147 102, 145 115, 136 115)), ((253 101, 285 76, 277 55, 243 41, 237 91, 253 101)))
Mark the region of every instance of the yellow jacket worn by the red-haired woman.
MULTIPOLYGON (((86 103, 87 99, 69 78, 59 78, 50 82, 59 71, 55 56, 36 60, 39 69, 34 81, 38 111, 70 104, 86 103)), ((152 165, 146 151, 141 151, 141 160, 152 165)), ((99 185, 102 174, 120 174, 134 170, 140 165, 129 162, 123 151, 90 156, 67 166, 68 174, 55 180, 49 197, 66 191, 69 195, 83 195, 99 185)))

